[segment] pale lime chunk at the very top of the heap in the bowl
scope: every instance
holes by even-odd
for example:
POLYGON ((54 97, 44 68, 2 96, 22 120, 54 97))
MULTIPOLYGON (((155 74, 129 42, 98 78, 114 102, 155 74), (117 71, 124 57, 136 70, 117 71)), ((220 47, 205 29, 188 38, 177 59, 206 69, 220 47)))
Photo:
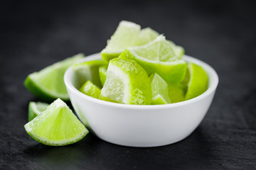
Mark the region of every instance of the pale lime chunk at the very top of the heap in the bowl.
POLYGON ((110 61, 118 57, 126 47, 140 45, 140 28, 136 23, 121 21, 110 40, 107 41, 107 46, 102 50, 102 59, 110 61))

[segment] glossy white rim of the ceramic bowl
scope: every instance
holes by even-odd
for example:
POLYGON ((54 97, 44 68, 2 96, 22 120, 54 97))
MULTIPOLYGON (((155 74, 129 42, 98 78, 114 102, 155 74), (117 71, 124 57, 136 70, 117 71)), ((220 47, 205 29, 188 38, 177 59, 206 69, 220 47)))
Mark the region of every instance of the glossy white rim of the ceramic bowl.
MULTIPOLYGON (((99 57, 100 57, 100 52, 92 54, 92 55, 88 55, 87 57, 83 58, 82 60, 79 60, 76 63, 90 61, 90 60, 93 60, 93 59, 99 58, 99 57)), ((206 98, 207 96, 212 94, 218 86, 219 78, 218 78, 218 74, 215 72, 213 67, 211 67, 206 62, 203 62, 201 60, 198 60, 198 59, 188 56, 188 55, 184 55, 183 60, 185 60, 186 62, 193 62, 193 63, 198 64, 201 67, 203 67, 203 69, 205 69, 206 73, 208 74, 208 77, 210 79, 210 81, 208 81, 208 82, 210 82, 210 84, 208 84, 208 89, 205 92, 203 92, 203 94, 196 96, 195 98, 191 98, 187 101, 181 101, 181 102, 177 102, 177 103, 169 103, 169 104, 164 104, 164 105, 128 105, 128 104, 122 104, 122 103, 112 103, 109 101, 102 101, 100 99, 93 98, 91 96, 87 96, 85 94, 82 94, 71 83, 70 76, 71 76, 71 72, 73 72, 73 65, 71 65, 65 71, 64 82, 65 82, 66 88, 69 89, 70 91, 72 91, 73 93, 75 93, 77 96, 80 96, 81 98, 85 98, 92 102, 98 103, 100 105, 105 105, 105 106, 107 105, 107 106, 112 106, 112 107, 117 107, 117 108, 129 108, 129 109, 161 109, 161 108, 173 108, 173 107, 177 107, 177 106, 184 106, 189 103, 195 103, 196 101, 200 101, 203 98, 206 98)))

